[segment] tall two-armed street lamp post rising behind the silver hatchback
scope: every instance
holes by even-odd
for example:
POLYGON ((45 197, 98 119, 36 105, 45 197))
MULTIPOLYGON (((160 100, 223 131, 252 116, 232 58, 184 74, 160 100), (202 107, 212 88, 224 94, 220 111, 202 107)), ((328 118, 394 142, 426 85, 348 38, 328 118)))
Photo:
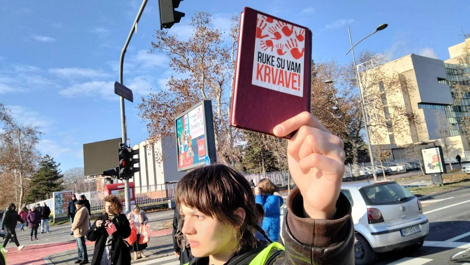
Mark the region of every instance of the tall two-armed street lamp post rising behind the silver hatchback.
MULTIPOLYGON (((374 33, 385 29, 387 26, 388 26, 388 24, 380 24, 374 32, 372 32, 369 35, 367 35, 366 37, 362 38, 362 40, 365 40, 369 36, 373 35, 374 33)), ((354 80, 355 79, 357 81, 357 86, 359 88, 359 96, 360 96, 360 109, 361 109, 361 112, 362 112, 362 120, 364 120, 364 130, 366 131, 366 138, 367 138, 366 140, 367 140, 367 148, 368 148, 368 151, 369 151, 370 164, 371 164, 371 167, 372 167, 372 174, 374 174, 374 180, 376 181, 377 180, 377 172, 376 172, 376 166, 375 166, 375 163, 374 163, 374 156, 372 154, 372 146, 371 146, 371 143, 370 143, 369 130, 368 130, 368 125, 367 125, 367 120, 366 120, 366 110, 365 110, 365 107, 364 107, 364 97, 362 95, 362 89, 360 87, 360 76, 359 76, 359 72, 358 72, 357 66, 356 66, 356 57, 354 56, 354 47, 356 45, 358 45, 362 40, 359 40, 358 42, 356 42, 356 44, 352 45, 351 30, 350 30, 349 27, 348 27, 348 33, 349 33, 349 42, 351 43, 351 48, 348 50, 348 52, 346 52, 346 55, 348 55, 348 53, 350 51, 352 52, 352 62, 354 64, 354 73, 356 74, 356 78, 346 77, 346 78, 340 78, 338 80, 344 80, 344 79, 354 80)), ((337 81, 337 80, 327 79, 324 82, 329 84, 329 83, 333 83, 335 81, 337 81)))

